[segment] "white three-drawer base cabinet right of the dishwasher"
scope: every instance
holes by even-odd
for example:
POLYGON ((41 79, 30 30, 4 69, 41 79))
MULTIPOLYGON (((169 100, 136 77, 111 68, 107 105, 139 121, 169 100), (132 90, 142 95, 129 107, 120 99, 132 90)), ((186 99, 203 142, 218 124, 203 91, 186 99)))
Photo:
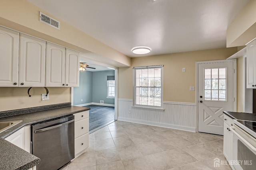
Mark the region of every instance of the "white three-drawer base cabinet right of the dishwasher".
POLYGON ((75 158, 89 147, 89 111, 74 114, 75 116, 75 158))

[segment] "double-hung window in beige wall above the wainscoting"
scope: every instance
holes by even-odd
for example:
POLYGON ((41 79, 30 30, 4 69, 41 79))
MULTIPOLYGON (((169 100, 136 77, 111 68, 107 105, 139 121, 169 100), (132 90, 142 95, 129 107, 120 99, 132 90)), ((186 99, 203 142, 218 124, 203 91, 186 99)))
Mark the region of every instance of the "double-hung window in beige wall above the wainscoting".
POLYGON ((163 66, 134 67, 134 106, 162 109, 163 66))

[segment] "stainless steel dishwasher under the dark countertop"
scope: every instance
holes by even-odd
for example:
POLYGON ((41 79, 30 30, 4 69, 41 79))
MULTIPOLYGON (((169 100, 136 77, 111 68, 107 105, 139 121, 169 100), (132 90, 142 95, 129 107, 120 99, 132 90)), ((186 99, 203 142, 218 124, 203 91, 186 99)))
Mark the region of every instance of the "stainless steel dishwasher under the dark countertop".
POLYGON ((57 170, 74 158, 74 116, 32 125, 32 154, 36 170, 57 170))

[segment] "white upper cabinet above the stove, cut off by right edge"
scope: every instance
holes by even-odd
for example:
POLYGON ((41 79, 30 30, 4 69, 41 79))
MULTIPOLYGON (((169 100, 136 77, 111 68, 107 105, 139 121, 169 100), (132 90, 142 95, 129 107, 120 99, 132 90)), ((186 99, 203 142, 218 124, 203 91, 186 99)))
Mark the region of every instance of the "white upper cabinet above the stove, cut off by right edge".
POLYGON ((246 88, 256 88, 256 40, 246 46, 246 88))

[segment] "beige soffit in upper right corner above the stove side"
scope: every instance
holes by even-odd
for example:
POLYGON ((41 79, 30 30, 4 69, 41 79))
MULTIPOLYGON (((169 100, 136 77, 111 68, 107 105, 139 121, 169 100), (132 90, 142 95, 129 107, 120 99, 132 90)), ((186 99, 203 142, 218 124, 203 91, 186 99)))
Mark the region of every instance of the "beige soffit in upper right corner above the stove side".
POLYGON ((256 38, 256 0, 250 0, 227 29, 227 47, 242 46, 256 38))

